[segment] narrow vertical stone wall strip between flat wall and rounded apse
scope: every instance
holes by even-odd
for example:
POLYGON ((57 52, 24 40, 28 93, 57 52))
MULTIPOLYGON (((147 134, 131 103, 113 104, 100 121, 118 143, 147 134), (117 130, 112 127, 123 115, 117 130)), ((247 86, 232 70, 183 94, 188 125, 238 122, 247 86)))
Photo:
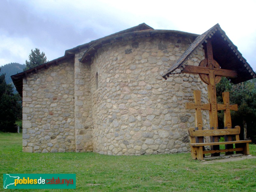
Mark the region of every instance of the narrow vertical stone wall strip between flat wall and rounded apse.
POLYGON ((76 152, 92 151, 91 68, 79 62, 84 51, 75 56, 75 135, 76 152))

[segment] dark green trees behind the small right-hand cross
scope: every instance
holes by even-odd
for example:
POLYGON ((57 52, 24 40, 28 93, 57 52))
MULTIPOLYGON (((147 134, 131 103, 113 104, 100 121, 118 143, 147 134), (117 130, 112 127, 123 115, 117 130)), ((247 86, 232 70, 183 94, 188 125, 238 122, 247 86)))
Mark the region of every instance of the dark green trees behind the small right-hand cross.
MULTIPOLYGON (((237 104, 238 111, 230 111, 232 126, 239 125, 244 139, 250 137, 256 143, 256 79, 232 84, 223 77, 216 85, 217 102, 222 103, 222 92, 229 92, 230 104, 237 104)), ((218 124, 223 128, 223 111, 218 112, 218 124)))

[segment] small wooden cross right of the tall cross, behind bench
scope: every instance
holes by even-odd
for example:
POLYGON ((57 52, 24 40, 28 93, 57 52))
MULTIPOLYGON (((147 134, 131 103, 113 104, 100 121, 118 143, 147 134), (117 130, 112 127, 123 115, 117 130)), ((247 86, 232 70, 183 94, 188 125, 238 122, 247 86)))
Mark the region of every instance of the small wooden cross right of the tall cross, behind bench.
MULTIPOLYGON (((237 104, 230 105, 229 104, 229 92, 223 92, 222 93, 222 98, 223 98, 223 104, 217 104, 217 109, 219 110, 224 110, 224 127, 227 127, 227 129, 232 128, 231 124, 231 115, 230 115, 230 110, 233 111, 238 111, 237 104)), ((232 141, 232 136, 228 135, 225 137, 225 141, 232 141)), ((226 149, 233 148, 233 144, 226 145, 226 149)), ((234 154, 234 152, 227 152, 227 155, 234 154)))

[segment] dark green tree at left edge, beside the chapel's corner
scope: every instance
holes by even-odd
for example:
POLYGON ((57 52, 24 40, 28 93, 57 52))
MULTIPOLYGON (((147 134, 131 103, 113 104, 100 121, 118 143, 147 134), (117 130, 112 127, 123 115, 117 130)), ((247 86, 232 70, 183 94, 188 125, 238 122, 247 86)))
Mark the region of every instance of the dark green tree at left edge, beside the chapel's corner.
MULTIPOLYGON (((1 68, 0 68, 1 71, 1 68)), ((21 98, 13 94, 11 84, 6 84, 5 74, 0 76, 0 131, 16 132, 15 120, 21 118, 21 98)))

